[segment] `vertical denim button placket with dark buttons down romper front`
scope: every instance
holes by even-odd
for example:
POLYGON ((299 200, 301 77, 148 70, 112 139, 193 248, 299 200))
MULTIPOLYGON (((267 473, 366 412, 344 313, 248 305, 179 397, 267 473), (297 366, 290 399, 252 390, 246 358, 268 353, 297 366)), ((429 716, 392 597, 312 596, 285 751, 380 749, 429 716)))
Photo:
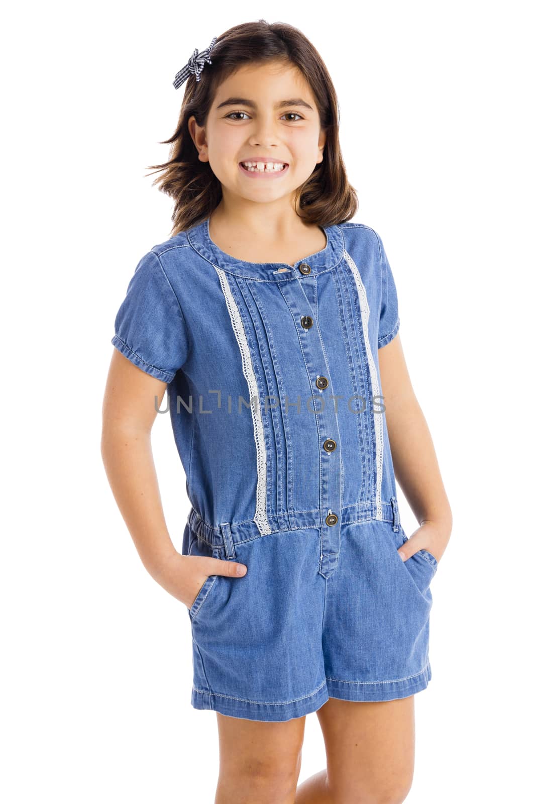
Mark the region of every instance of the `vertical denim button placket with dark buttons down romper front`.
MULTIPOLYGON (((310 376, 310 383, 314 389, 323 393, 329 388, 332 392, 332 382, 329 378, 329 368, 325 363, 325 353, 321 343, 321 337, 317 326, 313 325, 313 309, 311 301, 305 292, 309 284, 302 276, 309 276, 311 268, 306 263, 301 263, 298 268, 300 273, 295 273, 295 281, 281 283, 280 292, 284 295, 289 310, 296 313, 297 310, 303 312, 304 300, 311 311, 311 314, 297 314, 297 319, 301 326, 297 327, 298 337, 301 339, 301 351, 303 352, 305 365, 310 376), (310 319, 311 325, 305 326, 310 319), (317 372, 310 375, 312 367, 317 368, 317 372)), ((314 277, 313 277, 313 281, 314 277)), ((313 369, 314 370, 314 369, 313 369)), ((307 389, 310 391, 310 388, 307 389)), ((333 390, 333 394, 335 391, 333 390)), ((338 449, 340 433, 338 428, 338 416, 333 404, 326 400, 328 404, 323 404, 321 409, 317 409, 318 393, 313 393, 316 411, 312 415, 316 416, 319 441, 317 445, 311 445, 311 449, 320 447, 320 478, 321 484, 321 549, 319 555, 319 572, 326 578, 337 568, 338 554, 341 547, 341 518, 342 507, 342 458, 341 450, 338 449), (333 436, 333 437, 332 437, 333 436)), ((322 400, 323 401, 323 400, 322 400)), ((311 414, 309 414, 311 415, 311 414)))

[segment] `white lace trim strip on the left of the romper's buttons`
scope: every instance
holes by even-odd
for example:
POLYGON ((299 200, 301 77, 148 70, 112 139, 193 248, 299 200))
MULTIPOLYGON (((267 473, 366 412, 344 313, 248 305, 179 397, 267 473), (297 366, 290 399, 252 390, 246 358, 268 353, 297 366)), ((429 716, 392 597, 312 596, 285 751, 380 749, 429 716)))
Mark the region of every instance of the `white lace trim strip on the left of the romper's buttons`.
POLYGON ((259 528, 261 535, 272 533, 266 512, 266 443, 264 441, 264 427, 263 420, 260 413, 260 399, 259 389, 255 372, 253 371, 252 355, 248 348, 248 338, 243 328, 242 318, 240 318, 239 309, 236 306, 235 299, 231 293, 227 276, 222 269, 214 266, 219 276, 219 284, 222 287, 225 303, 227 304, 227 312, 231 318, 232 328, 235 332, 236 342, 242 356, 242 371, 248 383, 249 398, 253 420, 253 434, 255 437, 255 446, 257 453, 257 498, 256 498, 256 511, 253 521, 259 528))

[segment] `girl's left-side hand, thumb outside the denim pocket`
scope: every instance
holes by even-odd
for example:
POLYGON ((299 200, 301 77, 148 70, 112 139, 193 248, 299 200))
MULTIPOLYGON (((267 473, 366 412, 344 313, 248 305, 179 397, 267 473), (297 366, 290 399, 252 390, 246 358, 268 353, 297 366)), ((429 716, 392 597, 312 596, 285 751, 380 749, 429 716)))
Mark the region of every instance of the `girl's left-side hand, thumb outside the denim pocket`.
POLYGON ((147 567, 166 592, 191 608, 199 589, 203 586, 209 575, 227 575, 228 577, 243 577, 248 568, 245 564, 236 561, 225 561, 209 556, 182 556, 174 550, 166 554, 157 566, 147 567), (243 572, 240 570, 243 569, 243 572))

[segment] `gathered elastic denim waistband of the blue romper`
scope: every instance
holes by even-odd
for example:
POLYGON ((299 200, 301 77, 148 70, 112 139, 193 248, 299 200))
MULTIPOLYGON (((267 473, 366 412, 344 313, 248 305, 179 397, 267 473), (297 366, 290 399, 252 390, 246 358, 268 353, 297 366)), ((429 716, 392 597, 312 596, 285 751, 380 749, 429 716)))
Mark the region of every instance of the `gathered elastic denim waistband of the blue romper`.
MULTIPOLYGON (((394 531, 400 529, 399 505, 396 497, 391 497, 389 503, 382 502, 382 518, 376 516, 375 500, 370 503, 356 503, 342 509, 339 517, 341 525, 350 525, 360 522, 390 522, 394 531)), ((301 531, 308 527, 321 528, 321 511, 293 511, 290 515, 268 515, 270 534, 284 531, 301 531)), ((219 527, 213 527, 205 522, 203 517, 192 506, 188 514, 188 524, 198 539, 210 544, 212 548, 225 548, 227 557, 234 557, 233 544, 258 539, 262 535, 255 520, 244 522, 224 522, 219 527)))

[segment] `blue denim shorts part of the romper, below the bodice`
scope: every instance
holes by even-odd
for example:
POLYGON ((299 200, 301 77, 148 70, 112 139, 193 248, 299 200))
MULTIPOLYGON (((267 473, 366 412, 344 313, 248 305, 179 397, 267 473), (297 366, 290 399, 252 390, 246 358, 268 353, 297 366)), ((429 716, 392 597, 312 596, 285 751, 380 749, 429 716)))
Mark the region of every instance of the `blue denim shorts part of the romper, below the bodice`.
POLYGON ((328 698, 386 701, 428 686, 437 561, 427 550, 401 560, 395 498, 383 510, 383 520, 343 523, 327 564, 314 515, 293 530, 227 525, 219 535, 190 511, 183 554, 248 567, 243 577, 208 576, 187 609, 194 708, 283 721, 328 698))

